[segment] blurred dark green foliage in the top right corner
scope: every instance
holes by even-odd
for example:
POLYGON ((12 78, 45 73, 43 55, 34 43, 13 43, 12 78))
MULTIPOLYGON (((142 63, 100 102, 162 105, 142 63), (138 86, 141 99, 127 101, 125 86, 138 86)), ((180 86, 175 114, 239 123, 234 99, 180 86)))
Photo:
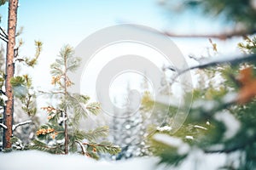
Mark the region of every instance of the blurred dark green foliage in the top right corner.
POLYGON ((256 4, 254 0, 164 0, 166 6, 172 9, 199 9, 203 13, 221 16, 228 24, 237 26, 240 31, 255 32, 256 4), (174 6, 174 8, 173 8, 174 6))

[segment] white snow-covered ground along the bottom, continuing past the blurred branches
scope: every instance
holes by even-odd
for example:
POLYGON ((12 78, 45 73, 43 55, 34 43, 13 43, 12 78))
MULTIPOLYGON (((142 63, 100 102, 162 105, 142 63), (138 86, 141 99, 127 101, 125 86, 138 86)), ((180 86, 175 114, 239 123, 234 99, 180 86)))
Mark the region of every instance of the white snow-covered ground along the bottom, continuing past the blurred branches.
POLYGON ((35 150, 0 153, 1 170, 216 170, 224 163, 225 156, 206 157, 198 152, 194 156, 189 156, 187 161, 177 168, 158 166, 158 161, 157 157, 133 158, 127 161, 95 161, 79 155, 56 156, 35 150))

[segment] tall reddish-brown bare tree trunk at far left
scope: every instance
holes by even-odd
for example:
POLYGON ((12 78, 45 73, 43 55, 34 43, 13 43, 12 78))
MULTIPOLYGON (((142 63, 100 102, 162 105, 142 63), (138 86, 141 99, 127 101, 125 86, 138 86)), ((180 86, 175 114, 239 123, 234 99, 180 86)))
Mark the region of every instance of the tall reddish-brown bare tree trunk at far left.
POLYGON ((15 74, 15 34, 17 24, 17 8, 18 0, 9 0, 9 16, 8 16, 8 42, 6 53, 6 77, 5 77, 5 90, 6 90, 6 107, 3 113, 3 123, 6 129, 3 130, 3 149, 10 149, 12 144, 10 139, 13 135, 13 114, 14 114, 14 94, 10 79, 15 74))

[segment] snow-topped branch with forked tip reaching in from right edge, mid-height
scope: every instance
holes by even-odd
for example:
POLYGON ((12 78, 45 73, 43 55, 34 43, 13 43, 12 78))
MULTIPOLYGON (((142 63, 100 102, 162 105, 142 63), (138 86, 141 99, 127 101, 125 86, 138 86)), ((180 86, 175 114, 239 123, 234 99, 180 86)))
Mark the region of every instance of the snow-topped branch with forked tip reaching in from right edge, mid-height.
MULTIPOLYGON (((177 77, 183 75, 183 73, 187 71, 191 71, 194 69, 204 69, 213 65, 220 65, 220 64, 230 64, 230 65, 237 65, 241 62, 247 62, 247 61, 256 61, 256 54, 247 54, 247 55, 236 55, 236 56, 222 56, 218 59, 212 58, 212 59, 201 59, 199 65, 190 66, 189 68, 183 69, 183 70, 177 70, 177 75, 172 78, 172 81, 176 80, 177 77), (219 59, 221 58, 221 59, 219 59)), ((172 67, 168 67, 167 69, 172 70, 172 67)))

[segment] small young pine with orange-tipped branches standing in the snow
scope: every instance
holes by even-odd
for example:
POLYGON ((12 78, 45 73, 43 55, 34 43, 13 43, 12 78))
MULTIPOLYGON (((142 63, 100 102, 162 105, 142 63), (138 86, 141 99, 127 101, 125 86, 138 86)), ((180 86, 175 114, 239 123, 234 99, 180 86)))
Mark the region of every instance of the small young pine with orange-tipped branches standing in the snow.
POLYGON ((90 97, 87 95, 68 91, 73 82, 67 74, 76 71, 80 63, 80 58, 73 54, 72 47, 64 46, 55 63, 50 66, 51 83, 55 86, 55 91, 44 94, 54 96, 58 103, 42 108, 48 114, 48 123, 38 129, 38 139, 34 140, 31 149, 54 154, 79 151, 84 156, 96 159, 100 153, 116 154, 119 152, 118 146, 108 141, 97 142, 97 139, 107 137, 108 127, 97 127, 87 132, 79 128, 81 119, 99 113, 100 104, 89 103, 90 97))

